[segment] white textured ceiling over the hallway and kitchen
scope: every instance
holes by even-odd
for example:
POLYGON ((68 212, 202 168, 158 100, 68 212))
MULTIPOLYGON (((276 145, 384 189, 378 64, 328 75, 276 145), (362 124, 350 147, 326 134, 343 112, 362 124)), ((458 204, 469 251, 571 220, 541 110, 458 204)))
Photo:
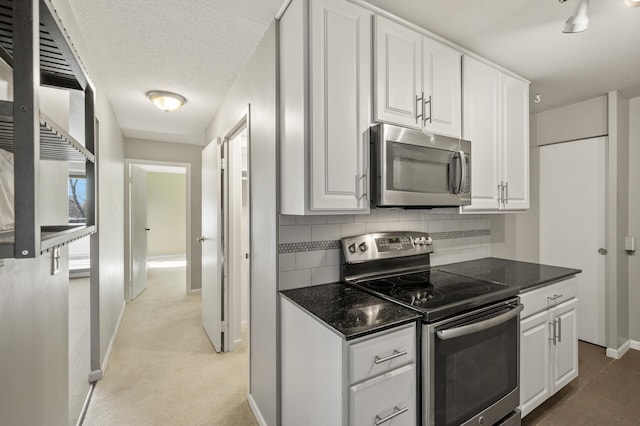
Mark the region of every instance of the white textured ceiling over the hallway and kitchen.
MULTIPOLYGON (((196 144, 282 3, 68 1, 125 135, 196 144), (165 113, 145 98, 153 89, 188 102, 165 113)), ((592 0, 579 34, 562 34, 577 0, 366 1, 531 80, 534 111, 611 90, 640 96, 640 8, 623 0, 592 0)))

